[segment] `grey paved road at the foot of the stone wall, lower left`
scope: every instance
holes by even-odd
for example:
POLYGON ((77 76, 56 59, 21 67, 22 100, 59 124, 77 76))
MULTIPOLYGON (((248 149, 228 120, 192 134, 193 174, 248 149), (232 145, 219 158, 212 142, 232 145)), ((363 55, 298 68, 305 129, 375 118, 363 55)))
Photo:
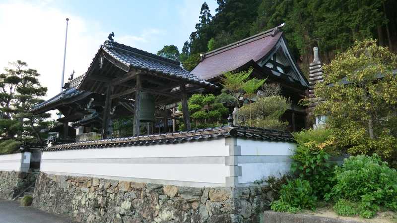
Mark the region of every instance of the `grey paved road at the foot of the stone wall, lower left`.
POLYGON ((65 217, 33 207, 21 207, 16 201, 0 199, 0 223, 73 223, 65 217))

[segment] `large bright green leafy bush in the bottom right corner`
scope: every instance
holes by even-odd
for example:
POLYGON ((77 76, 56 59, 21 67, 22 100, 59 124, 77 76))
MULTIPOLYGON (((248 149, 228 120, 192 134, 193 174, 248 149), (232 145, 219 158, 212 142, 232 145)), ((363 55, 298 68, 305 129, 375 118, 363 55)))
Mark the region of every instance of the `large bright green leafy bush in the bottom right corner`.
POLYGON ((380 207, 397 211, 397 171, 373 156, 351 156, 335 167, 336 184, 329 196, 359 203, 359 214, 373 217, 380 207))

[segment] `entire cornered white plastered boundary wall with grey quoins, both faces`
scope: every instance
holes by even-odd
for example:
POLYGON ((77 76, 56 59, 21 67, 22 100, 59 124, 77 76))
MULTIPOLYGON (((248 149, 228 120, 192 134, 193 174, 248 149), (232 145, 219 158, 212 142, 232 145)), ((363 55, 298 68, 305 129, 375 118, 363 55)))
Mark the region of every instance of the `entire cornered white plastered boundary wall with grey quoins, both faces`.
POLYGON ((177 144, 46 151, 42 172, 189 187, 254 185, 285 174, 295 145, 220 138, 177 144))

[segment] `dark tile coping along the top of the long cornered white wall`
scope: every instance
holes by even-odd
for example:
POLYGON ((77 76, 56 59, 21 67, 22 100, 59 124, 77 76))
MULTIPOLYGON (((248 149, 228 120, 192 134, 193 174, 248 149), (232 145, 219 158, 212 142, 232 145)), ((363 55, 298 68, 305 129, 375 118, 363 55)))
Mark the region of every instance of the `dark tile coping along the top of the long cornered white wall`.
POLYGON ((58 151, 72 149, 141 146, 151 144, 183 143, 199 140, 210 140, 219 137, 251 138, 255 140, 295 142, 291 133, 287 131, 269 130, 245 126, 224 125, 213 128, 195 129, 173 133, 140 135, 125 138, 102 139, 68 143, 48 147, 42 151, 58 151))

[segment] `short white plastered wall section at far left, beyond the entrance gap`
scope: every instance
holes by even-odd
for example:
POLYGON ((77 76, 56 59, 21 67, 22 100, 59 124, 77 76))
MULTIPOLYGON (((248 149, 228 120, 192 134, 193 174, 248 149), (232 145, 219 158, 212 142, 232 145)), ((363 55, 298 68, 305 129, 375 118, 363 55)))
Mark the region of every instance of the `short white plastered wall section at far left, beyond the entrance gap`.
POLYGON ((30 152, 0 155, 0 171, 27 172, 30 166, 30 152))

